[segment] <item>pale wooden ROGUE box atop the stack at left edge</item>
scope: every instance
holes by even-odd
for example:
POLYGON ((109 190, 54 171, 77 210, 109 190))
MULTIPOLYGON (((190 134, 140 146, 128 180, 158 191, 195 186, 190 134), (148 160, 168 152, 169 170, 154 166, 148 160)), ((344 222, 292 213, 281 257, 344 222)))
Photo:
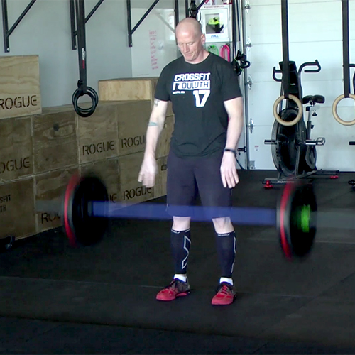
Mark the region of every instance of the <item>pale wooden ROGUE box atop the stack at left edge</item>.
POLYGON ((41 112, 38 55, 0 57, 0 119, 41 112))

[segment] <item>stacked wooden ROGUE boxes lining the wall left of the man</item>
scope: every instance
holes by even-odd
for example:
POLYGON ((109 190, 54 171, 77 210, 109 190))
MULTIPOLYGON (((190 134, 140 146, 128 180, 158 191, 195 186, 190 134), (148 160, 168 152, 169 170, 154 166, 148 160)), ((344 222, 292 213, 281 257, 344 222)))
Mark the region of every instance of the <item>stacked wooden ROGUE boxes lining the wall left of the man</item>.
POLYGON ((60 226, 58 214, 36 212, 35 204, 60 199, 75 173, 97 173, 111 202, 165 195, 172 115, 158 143, 155 187, 146 189, 137 180, 152 99, 101 98, 94 114, 83 118, 72 105, 41 107, 37 56, 0 58, 0 70, 9 74, 7 79, 0 75, 0 239, 60 226), (11 102, 16 104, 9 109, 11 102))

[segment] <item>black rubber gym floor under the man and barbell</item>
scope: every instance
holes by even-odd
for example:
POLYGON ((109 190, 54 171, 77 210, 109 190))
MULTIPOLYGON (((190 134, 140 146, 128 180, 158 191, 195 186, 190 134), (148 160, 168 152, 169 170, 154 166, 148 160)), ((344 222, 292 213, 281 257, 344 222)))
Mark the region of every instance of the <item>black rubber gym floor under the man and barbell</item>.
MULTIPOLYGON (((241 170, 234 206, 275 208, 275 171, 241 170)), ((355 209, 348 180, 313 178, 318 209, 355 209)), ((164 202, 164 198, 155 200, 164 202)), ((214 307, 219 266, 210 222, 192 224, 192 293, 170 282, 170 222, 111 220, 96 246, 71 248, 62 229, 0 254, 1 354, 355 354, 354 231, 318 229, 308 258, 283 257, 273 227, 235 226, 233 305, 214 307)))

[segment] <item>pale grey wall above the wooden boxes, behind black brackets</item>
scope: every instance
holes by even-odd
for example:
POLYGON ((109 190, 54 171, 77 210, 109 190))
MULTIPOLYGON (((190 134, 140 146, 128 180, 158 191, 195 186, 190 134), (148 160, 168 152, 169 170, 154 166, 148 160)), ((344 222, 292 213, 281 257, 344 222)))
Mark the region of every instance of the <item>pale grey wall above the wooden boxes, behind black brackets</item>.
MULTIPOLYGON (((86 14, 97 1, 85 0, 86 14)), ((7 1, 9 28, 29 2, 7 1)), ((131 1, 132 9, 148 9, 151 4, 153 0, 131 1)), ((160 0, 156 6, 173 7, 173 0, 160 0)), ((184 0, 180 0, 179 12, 180 19, 184 18, 184 0)), ((99 80, 132 77, 132 48, 128 45, 126 14, 126 0, 104 0, 87 22, 87 84, 95 90, 99 80)), ((2 28, 2 17, 0 22, 2 28)), ((135 24, 132 23, 132 27, 135 24)), ((135 38, 133 34, 133 46, 135 38)), ((39 55, 43 107, 71 104, 72 93, 79 79, 79 65, 77 51, 72 50, 69 1, 37 0, 13 31, 9 41, 10 52, 5 53, 1 31, 0 56, 39 55)))

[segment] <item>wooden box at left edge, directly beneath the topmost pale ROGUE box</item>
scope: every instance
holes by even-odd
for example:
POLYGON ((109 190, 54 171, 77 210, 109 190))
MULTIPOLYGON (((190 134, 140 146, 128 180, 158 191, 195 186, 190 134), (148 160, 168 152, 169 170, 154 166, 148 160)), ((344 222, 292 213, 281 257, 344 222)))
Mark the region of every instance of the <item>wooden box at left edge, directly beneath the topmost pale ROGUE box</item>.
POLYGON ((0 182, 33 175, 31 119, 0 120, 0 182))

